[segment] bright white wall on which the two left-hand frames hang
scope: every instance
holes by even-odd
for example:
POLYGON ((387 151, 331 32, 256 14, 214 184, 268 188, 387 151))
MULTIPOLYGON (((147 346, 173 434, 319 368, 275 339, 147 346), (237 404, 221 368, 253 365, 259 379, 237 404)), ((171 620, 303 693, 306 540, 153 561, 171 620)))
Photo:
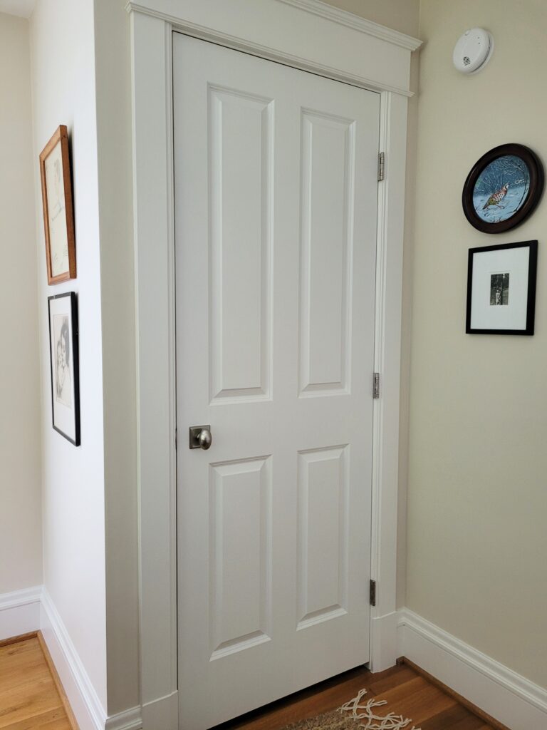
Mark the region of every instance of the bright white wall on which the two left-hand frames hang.
POLYGON ((42 378, 44 585, 106 708, 101 269, 93 0, 38 0, 31 17, 42 378), (69 128, 77 280, 47 286, 38 155, 69 128), (51 426, 47 296, 76 291, 82 445, 51 426))

